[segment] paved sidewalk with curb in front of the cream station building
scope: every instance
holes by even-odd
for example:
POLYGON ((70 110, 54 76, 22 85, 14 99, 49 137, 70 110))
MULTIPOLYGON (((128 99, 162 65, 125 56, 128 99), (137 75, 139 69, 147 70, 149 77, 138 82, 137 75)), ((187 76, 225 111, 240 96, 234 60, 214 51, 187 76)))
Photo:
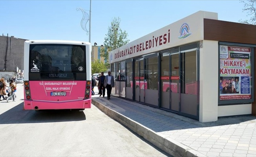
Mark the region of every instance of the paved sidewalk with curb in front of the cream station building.
POLYGON ((201 123, 114 96, 93 95, 92 104, 175 157, 256 157, 254 116, 201 123))

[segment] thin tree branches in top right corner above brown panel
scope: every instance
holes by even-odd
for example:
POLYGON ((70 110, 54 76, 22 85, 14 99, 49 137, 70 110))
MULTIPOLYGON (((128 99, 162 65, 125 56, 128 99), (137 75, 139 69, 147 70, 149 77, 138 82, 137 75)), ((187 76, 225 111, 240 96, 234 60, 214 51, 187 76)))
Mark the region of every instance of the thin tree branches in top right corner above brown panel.
POLYGON ((239 20, 239 22, 243 24, 251 24, 256 25, 256 0, 241 0, 242 3, 244 3, 245 9, 243 11, 247 11, 248 15, 250 17, 249 20, 239 20))

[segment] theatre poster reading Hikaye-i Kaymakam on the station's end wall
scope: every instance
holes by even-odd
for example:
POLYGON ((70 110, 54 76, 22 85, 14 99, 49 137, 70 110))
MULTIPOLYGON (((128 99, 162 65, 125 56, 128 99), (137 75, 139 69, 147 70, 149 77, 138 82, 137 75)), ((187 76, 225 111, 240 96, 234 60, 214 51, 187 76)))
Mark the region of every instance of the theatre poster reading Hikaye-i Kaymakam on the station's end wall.
POLYGON ((219 48, 219 99, 251 99, 251 48, 224 45, 219 48))

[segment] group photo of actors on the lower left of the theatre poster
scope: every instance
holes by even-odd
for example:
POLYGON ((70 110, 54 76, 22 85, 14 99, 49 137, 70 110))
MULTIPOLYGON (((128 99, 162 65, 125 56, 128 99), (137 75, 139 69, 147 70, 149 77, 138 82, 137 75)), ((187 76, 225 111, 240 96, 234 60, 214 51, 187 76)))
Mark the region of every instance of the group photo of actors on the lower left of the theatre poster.
POLYGON ((220 94, 239 94, 240 82, 239 77, 220 77, 219 90, 220 94))

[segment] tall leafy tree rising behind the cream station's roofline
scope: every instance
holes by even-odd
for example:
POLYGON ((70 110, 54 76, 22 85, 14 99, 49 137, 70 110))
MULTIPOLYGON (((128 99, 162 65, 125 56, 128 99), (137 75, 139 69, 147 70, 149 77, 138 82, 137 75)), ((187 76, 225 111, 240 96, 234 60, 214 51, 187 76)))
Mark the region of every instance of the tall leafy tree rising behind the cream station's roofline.
POLYGON ((114 18, 111 26, 108 26, 108 34, 104 38, 104 46, 107 47, 107 52, 101 49, 101 57, 108 61, 108 53, 118 47, 127 44, 130 40, 127 39, 128 34, 120 28, 121 19, 114 18))

